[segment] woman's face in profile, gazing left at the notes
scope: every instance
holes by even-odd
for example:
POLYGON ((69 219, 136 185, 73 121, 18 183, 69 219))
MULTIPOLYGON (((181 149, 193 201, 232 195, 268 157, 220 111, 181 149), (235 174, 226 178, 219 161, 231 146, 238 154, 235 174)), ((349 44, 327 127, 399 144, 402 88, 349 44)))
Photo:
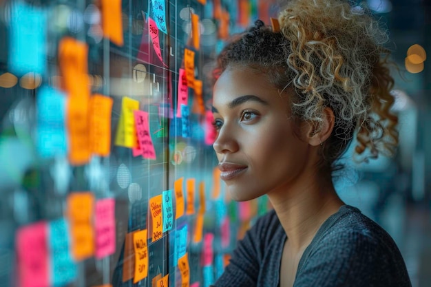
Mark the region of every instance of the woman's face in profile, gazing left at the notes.
MULTIPOLYGON (((246 67, 225 70, 213 90, 213 148, 221 179, 233 200, 251 200, 298 184, 309 145, 294 133, 288 93, 280 94, 265 74, 246 67)), ((302 130, 302 131, 301 131, 302 130)))

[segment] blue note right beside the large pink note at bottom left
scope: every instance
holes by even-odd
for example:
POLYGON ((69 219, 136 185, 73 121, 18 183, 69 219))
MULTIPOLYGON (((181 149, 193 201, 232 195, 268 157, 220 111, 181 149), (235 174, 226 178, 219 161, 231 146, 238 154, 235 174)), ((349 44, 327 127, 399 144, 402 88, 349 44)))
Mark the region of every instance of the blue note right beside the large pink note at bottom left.
POLYGON ((51 281, 54 287, 65 286, 76 279, 76 264, 70 253, 70 236, 64 218, 50 222, 51 281))

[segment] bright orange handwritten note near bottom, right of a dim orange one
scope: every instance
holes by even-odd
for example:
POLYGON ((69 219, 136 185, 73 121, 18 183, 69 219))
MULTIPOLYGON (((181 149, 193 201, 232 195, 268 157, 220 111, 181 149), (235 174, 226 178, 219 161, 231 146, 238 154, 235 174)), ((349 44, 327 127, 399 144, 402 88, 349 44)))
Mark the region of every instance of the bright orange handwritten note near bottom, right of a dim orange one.
POLYGON ((147 229, 133 234, 135 251, 135 273, 133 283, 148 276, 147 229))

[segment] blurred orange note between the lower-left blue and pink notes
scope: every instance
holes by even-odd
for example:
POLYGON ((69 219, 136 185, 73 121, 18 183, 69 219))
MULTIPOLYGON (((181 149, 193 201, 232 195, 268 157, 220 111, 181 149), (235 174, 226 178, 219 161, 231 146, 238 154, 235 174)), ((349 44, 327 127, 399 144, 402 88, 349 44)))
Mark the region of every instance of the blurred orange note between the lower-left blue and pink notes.
POLYGON ((90 192, 71 193, 67 198, 67 217, 72 234, 72 254, 82 260, 94 254, 94 195, 90 192))

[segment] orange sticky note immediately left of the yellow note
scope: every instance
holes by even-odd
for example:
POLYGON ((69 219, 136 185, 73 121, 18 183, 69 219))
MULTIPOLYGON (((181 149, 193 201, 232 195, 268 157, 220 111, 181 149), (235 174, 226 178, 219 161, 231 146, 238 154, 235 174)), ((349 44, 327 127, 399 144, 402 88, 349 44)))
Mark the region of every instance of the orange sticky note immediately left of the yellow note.
POLYGON ((90 145, 98 156, 109 156, 111 150, 112 102, 100 94, 90 98, 90 145))

